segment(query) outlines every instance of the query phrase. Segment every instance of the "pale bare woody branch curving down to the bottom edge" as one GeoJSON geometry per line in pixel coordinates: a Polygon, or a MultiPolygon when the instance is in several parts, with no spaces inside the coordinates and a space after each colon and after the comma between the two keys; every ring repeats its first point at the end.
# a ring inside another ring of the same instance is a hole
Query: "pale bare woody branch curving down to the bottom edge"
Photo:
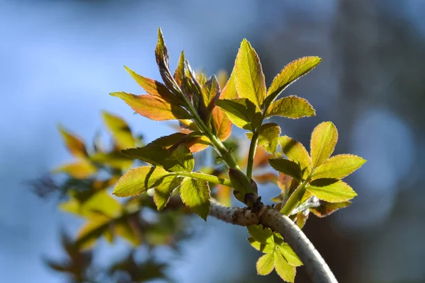
{"type": "Polygon", "coordinates": [[[211,200],[210,216],[239,226],[262,224],[272,231],[280,233],[286,243],[297,253],[307,268],[307,272],[314,283],[338,283],[329,266],[305,233],[294,222],[276,209],[261,207],[259,213],[248,208],[223,207],[215,200],[211,200]]]}

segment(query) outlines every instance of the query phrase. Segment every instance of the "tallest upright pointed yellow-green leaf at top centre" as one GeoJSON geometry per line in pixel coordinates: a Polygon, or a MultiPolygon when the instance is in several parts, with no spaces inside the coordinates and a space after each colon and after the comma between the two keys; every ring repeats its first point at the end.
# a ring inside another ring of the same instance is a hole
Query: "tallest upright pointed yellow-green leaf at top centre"
{"type": "Polygon", "coordinates": [[[259,56],[246,39],[242,41],[234,62],[234,83],[239,98],[247,98],[262,109],[266,82],[259,56]]]}

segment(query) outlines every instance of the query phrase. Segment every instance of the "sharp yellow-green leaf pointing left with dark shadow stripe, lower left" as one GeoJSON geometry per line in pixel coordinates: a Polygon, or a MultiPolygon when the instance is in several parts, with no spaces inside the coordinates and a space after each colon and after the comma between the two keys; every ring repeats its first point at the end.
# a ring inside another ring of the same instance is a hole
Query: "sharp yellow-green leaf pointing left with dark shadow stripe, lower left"
{"type": "Polygon", "coordinates": [[[117,197],[131,197],[156,187],[169,175],[169,172],[160,167],[141,166],[126,172],[116,183],[113,195],[117,197]]]}

